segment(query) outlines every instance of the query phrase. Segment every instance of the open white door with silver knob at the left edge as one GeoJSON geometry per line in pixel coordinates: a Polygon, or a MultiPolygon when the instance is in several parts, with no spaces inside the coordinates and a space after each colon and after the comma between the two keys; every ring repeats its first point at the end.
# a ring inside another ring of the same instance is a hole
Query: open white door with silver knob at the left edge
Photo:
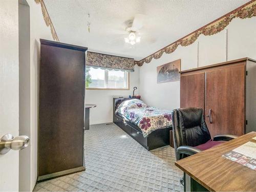
{"type": "MultiPolygon", "coordinates": [[[[1,0],[0,138],[8,133],[14,137],[19,135],[18,54],[18,1],[1,0]]],[[[0,152],[2,146],[3,142],[0,141],[0,152]]],[[[18,191],[18,189],[19,151],[10,150],[8,153],[0,155],[0,191],[18,191]]]]}

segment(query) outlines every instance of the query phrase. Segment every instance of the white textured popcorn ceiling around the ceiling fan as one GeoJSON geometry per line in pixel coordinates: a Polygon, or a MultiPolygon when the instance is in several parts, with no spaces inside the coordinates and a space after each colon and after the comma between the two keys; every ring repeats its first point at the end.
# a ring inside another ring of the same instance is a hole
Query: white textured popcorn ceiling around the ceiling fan
{"type": "Polygon", "coordinates": [[[61,42],[140,60],[249,2],[245,0],[44,0],[61,42]],[[91,32],[87,22],[90,13],[91,32]],[[145,14],[141,42],[125,44],[124,22],[145,14]]]}

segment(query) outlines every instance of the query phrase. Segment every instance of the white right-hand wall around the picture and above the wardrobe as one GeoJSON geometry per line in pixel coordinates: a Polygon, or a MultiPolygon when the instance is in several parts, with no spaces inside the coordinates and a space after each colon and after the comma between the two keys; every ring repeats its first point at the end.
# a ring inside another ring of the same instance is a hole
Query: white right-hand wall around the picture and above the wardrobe
{"type": "MultiPolygon", "coordinates": [[[[256,17],[235,18],[227,29],[227,60],[243,57],[256,59],[256,17]]],[[[173,110],[180,107],[180,81],[157,84],[157,66],[181,59],[181,70],[225,61],[226,31],[211,36],[200,35],[194,44],[179,46],[172,54],[144,63],[139,70],[141,99],[158,108],[173,110]],[[199,44],[199,49],[198,49],[199,44]],[[199,50],[199,51],[198,51],[199,50]]]]}

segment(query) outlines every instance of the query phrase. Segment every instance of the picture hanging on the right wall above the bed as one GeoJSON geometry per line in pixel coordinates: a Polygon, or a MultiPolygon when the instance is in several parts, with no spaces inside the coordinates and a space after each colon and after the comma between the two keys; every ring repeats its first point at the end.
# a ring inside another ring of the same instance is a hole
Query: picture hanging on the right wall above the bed
{"type": "Polygon", "coordinates": [[[180,80],[180,59],[157,67],[157,83],[180,80]]]}

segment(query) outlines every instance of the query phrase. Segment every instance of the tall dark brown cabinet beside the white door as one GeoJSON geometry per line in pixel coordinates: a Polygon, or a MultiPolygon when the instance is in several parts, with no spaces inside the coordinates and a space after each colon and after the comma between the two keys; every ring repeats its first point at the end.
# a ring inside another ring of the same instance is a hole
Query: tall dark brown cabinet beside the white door
{"type": "Polygon", "coordinates": [[[40,39],[38,181],[84,170],[87,48],[40,39]]]}

